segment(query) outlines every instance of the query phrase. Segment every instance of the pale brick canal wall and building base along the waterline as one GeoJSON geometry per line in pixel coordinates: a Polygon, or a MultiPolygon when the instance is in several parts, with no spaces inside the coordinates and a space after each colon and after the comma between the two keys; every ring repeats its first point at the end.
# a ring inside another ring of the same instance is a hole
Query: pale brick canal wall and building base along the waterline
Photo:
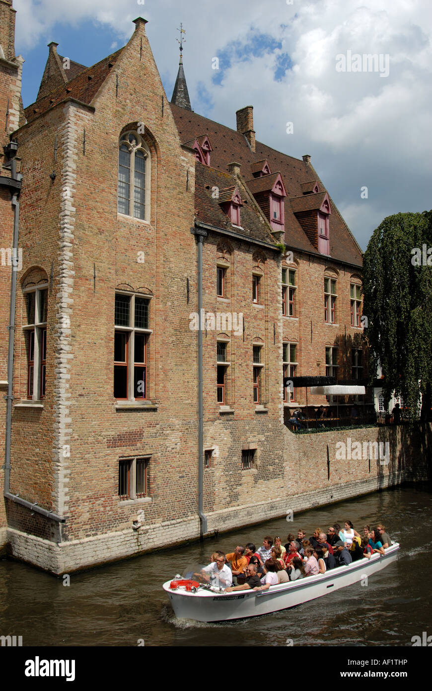
{"type": "MultiPolygon", "coordinates": [[[[282,435],[285,445],[285,476],[271,482],[271,496],[262,496],[259,501],[256,493],[248,491],[244,486],[237,501],[229,507],[226,505],[229,500],[227,493],[225,504],[219,504],[221,509],[206,513],[209,533],[233,530],[286,515],[288,511],[304,511],[384,489],[406,480],[420,481],[430,477],[427,449],[431,448],[431,426],[423,433],[395,426],[336,430],[310,435],[293,435],[282,428],[282,435]],[[361,444],[361,458],[356,457],[358,454],[355,449],[359,449],[356,442],[361,444]],[[388,463],[385,457],[375,458],[375,453],[370,453],[372,457],[369,463],[368,454],[363,453],[366,448],[373,452],[369,442],[384,444],[382,456],[388,449],[388,463]],[[341,446],[342,443],[345,447],[341,446]],[[385,446],[386,443],[389,444],[388,447],[385,446]],[[351,454],[348,448],[351,449],[351,454]],[[346,458],[341,458],[344,451],[346,458]]],[[[254,475],[251,477],[253,482],[254,475]]],[[[264,493],[264,484],[262,489],[264,493]]],[[[197,538],[197,515],[182,520],[151,524],[144,522],[138,531],[128,527],[68,542],[53,542],[13,527],[8,529],[7,537],[9,552],[15,558],[32,562],[55,574],[69,573],[197,538]]]]}

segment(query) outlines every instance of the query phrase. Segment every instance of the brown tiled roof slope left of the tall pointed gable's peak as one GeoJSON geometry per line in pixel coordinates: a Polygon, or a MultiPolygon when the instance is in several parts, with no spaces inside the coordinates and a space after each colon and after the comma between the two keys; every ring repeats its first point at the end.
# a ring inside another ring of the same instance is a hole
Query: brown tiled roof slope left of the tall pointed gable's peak
{"type": "MultiPolygon", "coordinates": [[[[27,122],[32,122],[39,115],[46,113],[50,108],[57,106],[57,104],[68,98],[90,105],[99,88],[104,84],[106,77],[108,77],[115,66],[122,50],[123,48],[119,48],[115,53],[108,55],[108,57],[92,65],[92,67],[85,68],[83,72],[70,79],[69,82],[57,87],[54,91],[28,106],[25,110],[27,122]]],[[[75,63],[75,65],[78,65],[78,63],[75,63]]]]}

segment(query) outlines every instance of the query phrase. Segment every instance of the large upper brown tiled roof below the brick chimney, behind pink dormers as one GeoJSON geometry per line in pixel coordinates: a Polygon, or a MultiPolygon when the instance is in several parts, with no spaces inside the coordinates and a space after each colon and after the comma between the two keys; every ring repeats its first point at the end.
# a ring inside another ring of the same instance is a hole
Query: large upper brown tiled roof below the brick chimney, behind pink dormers
{"type": "MultiPolygon", "coordinates": [[[[326,191],[325,185],[322,184],[310,162],[293,158],[293,156],[271,149],[270,146],[266,146],[258,141],[256,142],[255,152],[253,152],[244,135],[237,130],[209,120],[203,115],[186,111],[175,104],[171,104],[171,111],[177,124],[181,142],[195,140],[197,134],[203,135],[206,133],[208,135],[213,146],[211,162],[215,169],[225,171],[228,168],[228,163],[233,160],[238,161],[245,182],[250,180],[253,173],[259,170],[257,164],[265,160],[268,162],[271,171],[279,172],[288,195],[288,198],[285,200],[286,245],[291,249],[300,249],[319,257],[324,256],[317,252],[317,249],[308,240],[291,209],[291,204],[288,202],[291,198],[304,196],[304,187],[302,185],[311,182],[311,180],[317,181],[321,192],[326,191]]],[[[329,222],[331,257],[335,260],[361,267],[362,250],[348,229],[344,219],[340,216],[339,211],[337,211],[335,202],[333,202],[329,193],[328,198],[333,211],[329,222]]]]}

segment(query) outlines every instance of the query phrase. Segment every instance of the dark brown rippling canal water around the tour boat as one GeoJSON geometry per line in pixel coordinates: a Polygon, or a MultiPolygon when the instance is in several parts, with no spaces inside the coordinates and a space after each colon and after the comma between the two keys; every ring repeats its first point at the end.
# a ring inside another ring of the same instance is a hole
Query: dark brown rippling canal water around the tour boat
{"type": "MultiPolygon", "coordinates": [[[[431,486],[403,486],[295,513],[195,543],[165,549],[70,576],[70,585],[12,560],[0,561],[0,634],[23,637],[23,646],[411,646],[432,634],[431,486]],[[161,584],[192,563],[207,563],[215,549],[297,529],[312,535],[333,522],[382,522],[400,556],[369,578],[284,612],[233,623],[179,621],[161,584]],[[141,643],[142,645],[142,643],[141,643]]],[[[288,510],[288,507],[287,507],[288,510]]]]}

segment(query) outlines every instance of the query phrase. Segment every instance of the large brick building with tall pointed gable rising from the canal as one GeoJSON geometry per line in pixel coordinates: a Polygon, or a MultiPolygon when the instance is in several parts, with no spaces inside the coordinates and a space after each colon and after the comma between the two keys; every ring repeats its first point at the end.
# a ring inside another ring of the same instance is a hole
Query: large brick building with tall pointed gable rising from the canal
{"type": "Polygon", "coordinates": [[[310,156],[256,141],[252,106],[193,113],[181,59],[168,102],[141,18],[90,68],[49,44],[24,118],[0,8],[1,544],[61,573],[280,515],[306,402],[283,375],[365,373],[362,253],[310,156]],[[7,426],[2,400],[2,453],[7,426]]]}

